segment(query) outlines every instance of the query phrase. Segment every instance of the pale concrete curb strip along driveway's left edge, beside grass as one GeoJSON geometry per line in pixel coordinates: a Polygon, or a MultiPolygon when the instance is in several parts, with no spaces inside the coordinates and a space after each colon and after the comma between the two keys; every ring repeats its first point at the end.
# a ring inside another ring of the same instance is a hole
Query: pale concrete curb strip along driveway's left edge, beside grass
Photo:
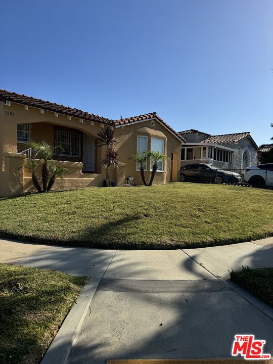
{"type": "Polygon", "coordinates": [[[69,311],[61,328],[45,352],[40,364],[65,364],[72,349],[75,338],[83,324],[101,277],[90,278],[83,287],[77,302],[69,311]]]}

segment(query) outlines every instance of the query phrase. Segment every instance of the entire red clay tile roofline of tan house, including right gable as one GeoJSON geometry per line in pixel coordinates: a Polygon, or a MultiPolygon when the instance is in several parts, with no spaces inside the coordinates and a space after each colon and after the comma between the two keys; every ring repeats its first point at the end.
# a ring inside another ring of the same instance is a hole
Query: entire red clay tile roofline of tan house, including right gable
{"type": "Polygon", "coordinates": [[[136,121],[145,121],[145,120],[156,118],[167,129],[169,129],[169,131],[172,132],[179,140],[186,143],[185,139],[181,135],[179,135],[175,130],[173,130],[172,127],[170,127],[164,120],[162,120],[156,114],[156,112],[153,112],[150,114],[145,114],[145,115],[140,115],[140,116],[132,116],[132,117],[120,119],[120,120],[112,120],[112,119],[105,118],[103,116],[90,114],[88,112],[78,110],[75,108],[70,108],[69,106],[63,106],[63,105],[59,105],[59,104],[56,104],[56,103],[53,103],[50,101],[44,101],[41,99],[35,99],[31,96],[20,95],[20,94],[10,92],[7,90],[3,90],[3,89],[0,89],[0,102],[1,101],[2,102],[11,101],[11,102],[22,104],[22,105],[28,105],[28,106],[36,107],[39,109],[44,109],[44,110],[53,111],[53,112],[68,115],[68,116],[77,117],[77,118],[84,119],[84,120],[90,120],[90,121],[99,122],[99,123],[107,124],[107,125],[114,125],[114,126],[127,125],[130,123],[136,122],[136,121]]]}

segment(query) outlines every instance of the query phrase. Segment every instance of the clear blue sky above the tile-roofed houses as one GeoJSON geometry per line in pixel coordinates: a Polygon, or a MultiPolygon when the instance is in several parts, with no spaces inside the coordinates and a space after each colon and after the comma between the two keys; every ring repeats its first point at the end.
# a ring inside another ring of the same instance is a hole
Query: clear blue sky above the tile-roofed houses
{"type": "Polygon", "coordinates": [[[0,88],[269,143],[272,19],[271,0],[2,2],[0,88]]]}

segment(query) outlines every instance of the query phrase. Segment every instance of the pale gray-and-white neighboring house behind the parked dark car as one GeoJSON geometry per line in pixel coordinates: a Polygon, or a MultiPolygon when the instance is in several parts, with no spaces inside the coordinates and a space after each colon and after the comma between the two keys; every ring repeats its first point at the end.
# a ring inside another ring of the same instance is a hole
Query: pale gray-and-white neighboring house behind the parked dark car
{"type": "Polygon", "coordinates": [[[180,131],[186,139],[181,150],[181,166],[192,163],[210,163],[223,169],[245,169],[257,164],[259,147],[250,132],[210,135],[190,129],[180,131]]]}

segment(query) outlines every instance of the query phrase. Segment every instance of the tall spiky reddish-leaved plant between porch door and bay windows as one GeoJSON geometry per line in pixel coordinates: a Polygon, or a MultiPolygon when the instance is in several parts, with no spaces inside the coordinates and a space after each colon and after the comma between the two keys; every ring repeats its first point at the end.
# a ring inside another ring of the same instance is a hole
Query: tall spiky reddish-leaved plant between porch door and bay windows
{"type": "Polygon", "coordinates": [[[114,136],[115,130],[107,127],[97,133],[98,135],[98,147],[107,147],[104,158],[102,159],[102,165],[106,166],[106,186],[109,187],[109,167],[111,165],[118,166],[117,157],[118,152],[115,151],[115,145],[119,143],[114,136]]]}

